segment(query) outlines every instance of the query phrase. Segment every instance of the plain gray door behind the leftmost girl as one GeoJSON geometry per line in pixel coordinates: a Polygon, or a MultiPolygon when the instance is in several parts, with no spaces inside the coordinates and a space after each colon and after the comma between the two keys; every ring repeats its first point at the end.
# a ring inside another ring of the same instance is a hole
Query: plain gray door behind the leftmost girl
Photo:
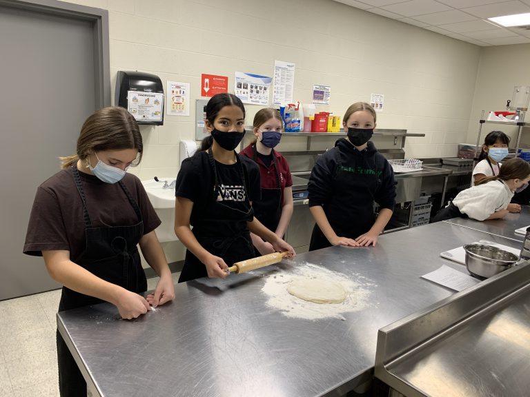
{"type": "Polygon", "coordinates": [[[100,107],[95,40],[88,19],[0,3],[0,300],[60,287],[22,248],[37,187],[100,107]]]}

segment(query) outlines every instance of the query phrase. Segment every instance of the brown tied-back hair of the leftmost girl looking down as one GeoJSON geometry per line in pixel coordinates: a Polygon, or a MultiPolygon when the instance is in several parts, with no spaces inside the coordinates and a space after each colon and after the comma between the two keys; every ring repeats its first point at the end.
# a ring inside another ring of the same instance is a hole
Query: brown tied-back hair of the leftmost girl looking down
{"type": "Polygon", "coordinates": [[[59,160],[61,167],[67,168],[79,159],[86,159],[93,152],[123,149],[137,149],[139,156],[134,163],[137,165],[141,161],[144,144],[140,129],[133,115],[125,108],[111,106],[96,110],[88,116],[77,139],[76,154],[59,157],[59,160]]]}

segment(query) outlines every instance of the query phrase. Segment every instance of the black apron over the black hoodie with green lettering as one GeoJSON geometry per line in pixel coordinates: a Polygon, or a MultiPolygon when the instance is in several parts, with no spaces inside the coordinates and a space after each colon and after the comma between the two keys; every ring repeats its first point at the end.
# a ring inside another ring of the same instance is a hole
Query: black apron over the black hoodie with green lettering
{"type": "MultiPolygon", "coordinates": [[[[337,236],[357,238],[368,232],[375,222],[373,201],[375,192],[380,187],[381,181],[375,170],[375,156],[373,157],[374,174],[354,174],[342,170],[340,150],[335,152],[337,167],[333,176],[332,193],[329,203],[324,204],[324,213],[328,222],[337,236]],[[366,200],[366,194],[371,200],[366,200]],[[349,208],[355,206],[352,213],[349,208]]],[[[313,227],[309,251],[331,247],[324,233],[317,224],[313,227]]]]}

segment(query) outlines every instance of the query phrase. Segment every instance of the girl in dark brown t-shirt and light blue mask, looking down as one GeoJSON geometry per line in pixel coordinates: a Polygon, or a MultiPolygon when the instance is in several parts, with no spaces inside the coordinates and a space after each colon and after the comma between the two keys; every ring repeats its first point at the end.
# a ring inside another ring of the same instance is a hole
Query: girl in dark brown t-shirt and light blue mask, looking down
{"type": "MultiPolygon", "coordinates": [[[[50,275],[63,284],[59,311],[108,301],[123,318],[136,318],[150,304],[175,296],[154,232],[160,221],[141,183],[125,172],[141,149],[133,116],[124,108],[100,109],[84,123],[77,154],[63,158],[64,170],[39,187],[24,252],[43,255],[50,275]],[[147,298],[139,295],[147,281],[137,245],[160,276],[147,298]]],[[[59,332],[57,359],[61,396],[86,395],[86,382],[59,332]]]]}

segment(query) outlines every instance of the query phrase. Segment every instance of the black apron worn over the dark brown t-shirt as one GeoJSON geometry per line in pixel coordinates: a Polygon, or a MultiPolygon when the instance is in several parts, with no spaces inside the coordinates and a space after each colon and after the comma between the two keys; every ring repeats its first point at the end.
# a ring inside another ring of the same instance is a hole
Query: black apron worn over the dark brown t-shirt
{"type": "MultiPolygon", "coordinates": [[[[83,201],[86,241],[85,251],[73,262],[109,283],[120,285],[132,292],[145,292],[147,279],[141,267],[137,248],[140,238],[144,235],[144,223],[135,199],[124,183],[119,181],[119,186],[135,210],[138,223],[132,226],[92,227],[77,165],[72,165],[72,172],[77,191],[83,201]]],[[[63,287],[59,312],[102,302],[99,298],[79,294],[63,287]]],[[[86,382],[59,331],[57,331],[57,361],[61,396],[86,396],[86,382]]]]}

